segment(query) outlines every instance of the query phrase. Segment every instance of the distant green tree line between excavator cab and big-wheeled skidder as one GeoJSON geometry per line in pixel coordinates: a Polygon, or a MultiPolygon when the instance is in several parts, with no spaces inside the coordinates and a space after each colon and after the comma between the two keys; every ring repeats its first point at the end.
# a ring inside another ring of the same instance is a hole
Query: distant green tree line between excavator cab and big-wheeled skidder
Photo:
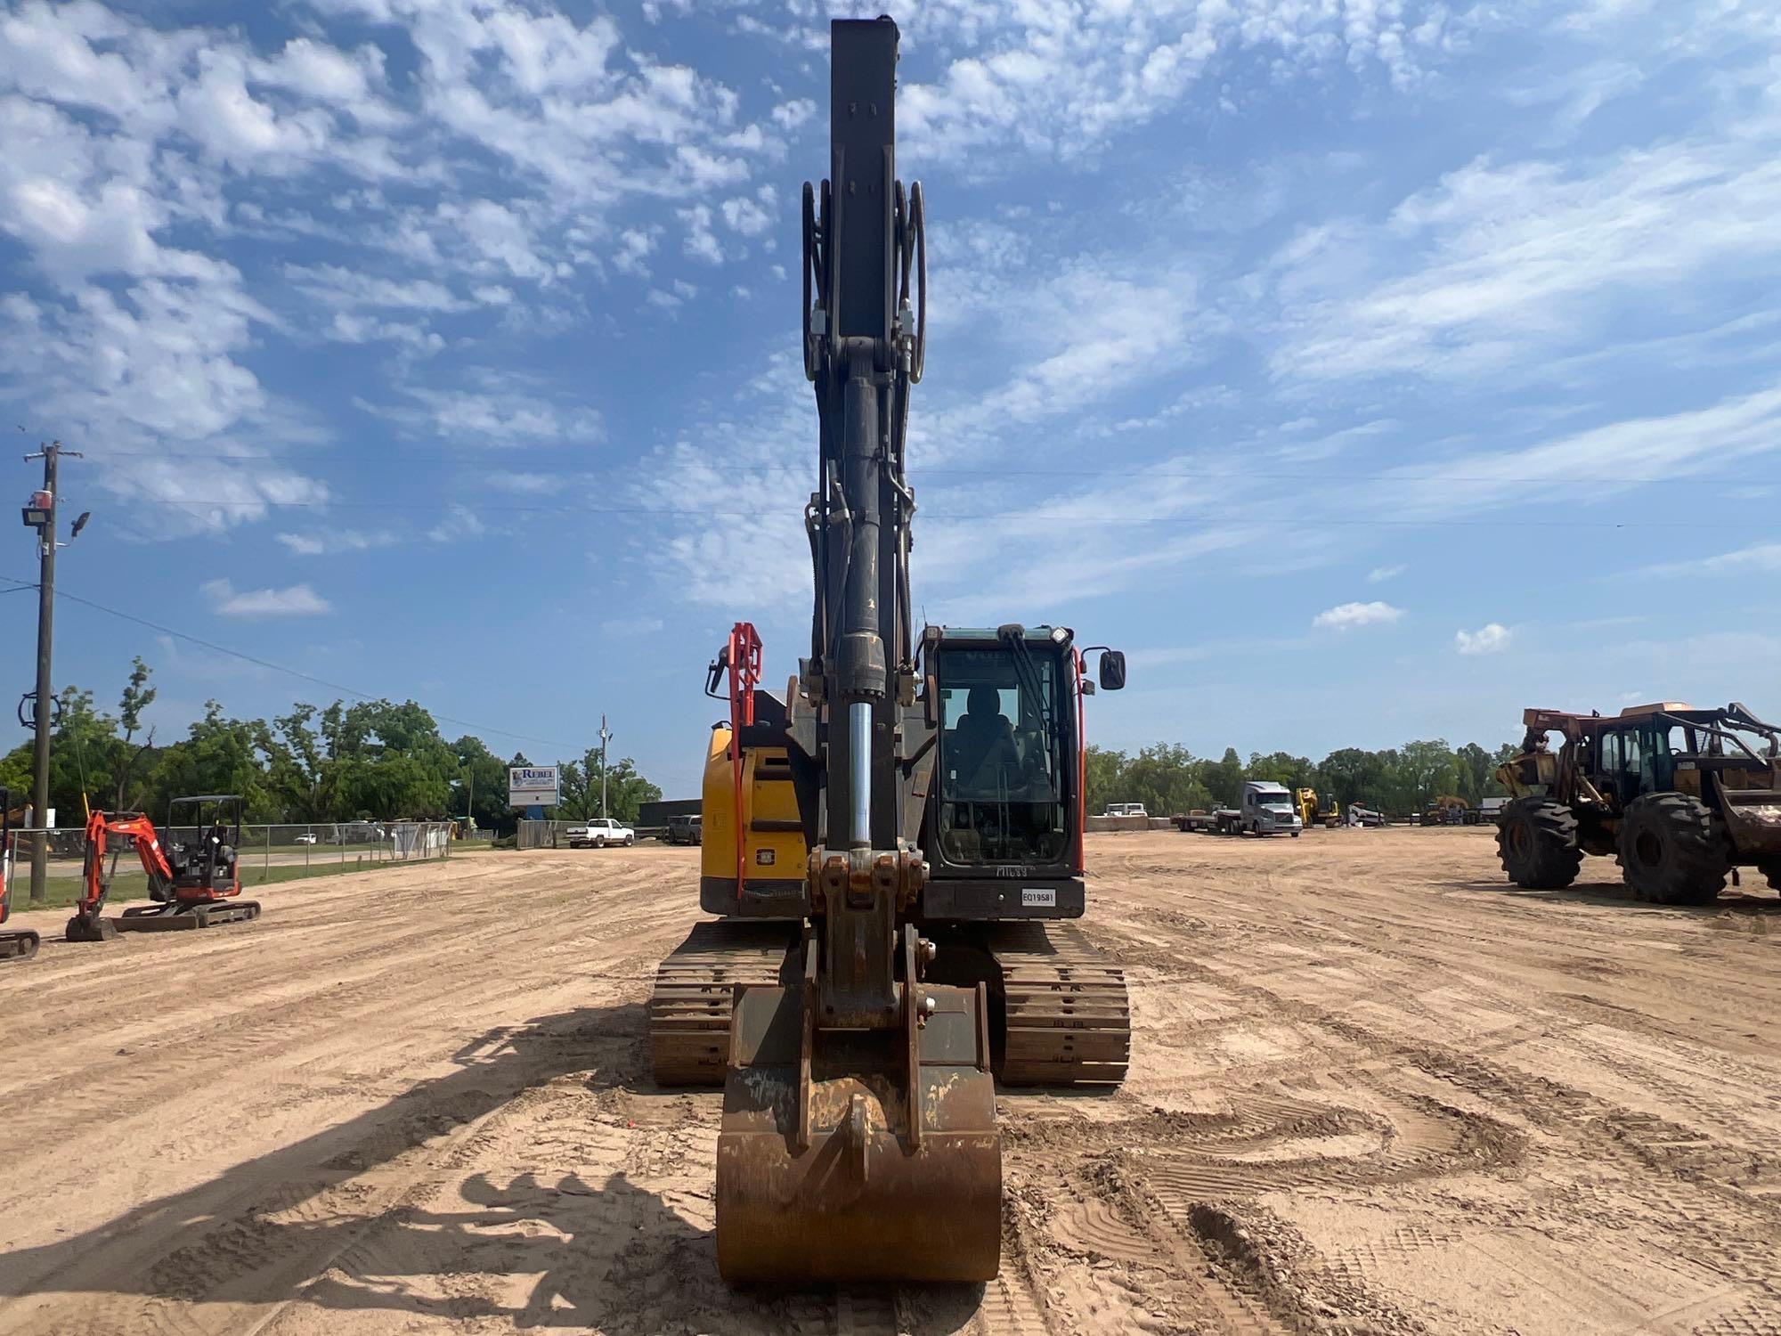
{"type": "Polygon", "coordinates": [[[1088,811],[1104,811],[1110,802],[1142,802],[1152,816],[1234,807],[1245,780],[1316,789],[1318,794],[1334,794],[1343,807],[1359,802],[1395,816],[1419,812],[1444,796],[1464,798],[1476,807],[1484,798],[1507,794],[1494,771],[1517,750],[1514,743],[1494,752],[1478,743],[1453,748],[1435,737],[1382,752],[1345,746],[1322,761],[1252,752],[1245,762],[1234,746],[1227,746],[1218,761],[1172,743],[1154,743],[1134,754],[1090,746],[1088,811]]]}

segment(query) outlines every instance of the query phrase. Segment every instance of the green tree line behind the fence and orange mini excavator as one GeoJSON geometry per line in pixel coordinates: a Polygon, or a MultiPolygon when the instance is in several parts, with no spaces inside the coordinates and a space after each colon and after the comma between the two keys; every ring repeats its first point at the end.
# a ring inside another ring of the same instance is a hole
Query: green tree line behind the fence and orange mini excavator
{"type": "MultiPolygon", "coordinates": [[[[253,823],[472,816],[484,830],[511,828],[516,814],[508,807],[508,766],[538,764],[524,752],[502,759],[470,734],[447,741],[413,700],[299,702],[271,720],[233,718],[210,700],[183,737],[160,743],[142,723],[155,700],[151,677],[153,670],[135,659],[116,713],[102,711],[84,688],[57,695],[50,805],[59,825],[78,825],[87,805],[160,819],[171,798],[239,793],[253,823]]],[[[600,748],[559,768],[563,805],[547,816],[598,816],[600,748]]],[[[0,784],[12,791],[14,805],[28,802],[30,743],[0,757],[0,784]]],[[[634,821],[641,803],[661,798],[630,757],[611,762],[606,791],[607,812],[622,821],[634,821]]]]}

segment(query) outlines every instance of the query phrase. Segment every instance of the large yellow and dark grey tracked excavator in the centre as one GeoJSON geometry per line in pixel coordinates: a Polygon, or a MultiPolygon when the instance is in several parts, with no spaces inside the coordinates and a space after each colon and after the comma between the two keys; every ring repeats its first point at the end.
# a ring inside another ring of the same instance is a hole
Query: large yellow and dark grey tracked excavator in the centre
{"type": "Polygon", "coordinates": [[[1126,659],[1061,625],[914,631],[924,201],[896,178],[896,23],[835,20],[830,41],[830,173],[803,187],[809,656],[784,697],[762,689],[739,622],[711,664],[718,917],[659,967],[650,1047],[659,1083],[723,1085],[728,1283],[981,1283],[1001,1265],[996,1078],[1126,1074],[1124,976],[1072,923],[1083,700],[1126,659]]]}

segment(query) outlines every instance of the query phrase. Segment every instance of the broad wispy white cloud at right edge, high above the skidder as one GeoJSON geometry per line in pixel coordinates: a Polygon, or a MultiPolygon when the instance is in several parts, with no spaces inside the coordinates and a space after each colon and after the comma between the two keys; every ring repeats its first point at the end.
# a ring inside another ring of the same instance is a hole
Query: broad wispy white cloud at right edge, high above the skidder
{"type": "Polygon", "coordinates": [[[1471,378],[1594,347],[1642,294],[1781,280],[1781,157],[1765,135],[1672,141],[1583,164],[1478,159],[1384,226],[1325,223],[1275,258],[1304,379],[1471,378]]]}

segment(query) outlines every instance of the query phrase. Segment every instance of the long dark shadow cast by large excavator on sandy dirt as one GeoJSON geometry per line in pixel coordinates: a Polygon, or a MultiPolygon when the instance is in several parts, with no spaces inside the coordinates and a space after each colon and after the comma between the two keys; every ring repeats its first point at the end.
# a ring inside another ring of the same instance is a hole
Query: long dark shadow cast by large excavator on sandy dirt
{"type": "MultiPolygon", "coordinates": [[[[638,1336],[700,1316],[728,1331],[796,1325],[812,1295],[723,1286],[714,1233],[623,1172],[597,1181],[575,1172],[522,1174],[497,1183],[467,1165],[458,1183],[463,1210],[419,1210],[397,1199],[367,1215],[292,1218],[328,1188],[374,1174],[565,1076],[586,1072],[584,1088],[593,1094],[661,1097],[643,1035],[639,1003],[484,1031],[454,1055],[458,1071],[449,1076],[96,1229],[9,1252],[0,1259],[0,1297],[137,1291],[187,1304],[296,1300],[324,1311],[488,1316],[516,1327],[597,1325],[638,1336]],[[135,1261],[144,1240],[153,1240],[150,1267],[135,1261]],[[128,1267],[114,1261],[119,1254],[130,1258],[128,1267]],[[388,1275],[376,1274],[385,1267],[388,1275]],[[451,1293],[454,1275],[513,1272],[538,1275],[520,1304],[451,1293]],[[424,1284],[403,1277],[424,1277],[424,1284]]],[[[417,1170],[417,1183],[427,1179],[427,1170],[417,1170]]],[[[960,1331],[980,1300],[981,1286],[937,1286],[924,1297],[930,1313],[917,1329],[960,1331]]]]}

